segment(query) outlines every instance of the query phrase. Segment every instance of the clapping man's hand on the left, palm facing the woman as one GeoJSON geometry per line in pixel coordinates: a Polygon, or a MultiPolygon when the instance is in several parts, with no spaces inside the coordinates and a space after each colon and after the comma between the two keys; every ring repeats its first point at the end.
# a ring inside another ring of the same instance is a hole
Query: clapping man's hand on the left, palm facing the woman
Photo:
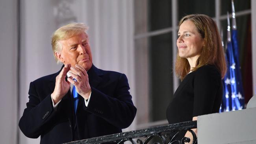
{"type": "Polygon", "coordinates": [[[65,65],[62,68],[59,75],[56,77],[55,88],[51,94],[54,104],[59,102],[65,96],[65,94],[67,94],[67,92],[69,91],[70,82],[66,81],[65,78],[67,76],[67,72],[70,70],[70,67],[71,67],[70,64],[65,65]]]}

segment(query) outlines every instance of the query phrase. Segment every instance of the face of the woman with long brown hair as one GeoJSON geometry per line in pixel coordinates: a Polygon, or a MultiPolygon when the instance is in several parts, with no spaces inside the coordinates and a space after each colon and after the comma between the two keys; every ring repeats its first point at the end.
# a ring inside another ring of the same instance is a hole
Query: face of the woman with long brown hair
{"type": "Polygon", "coordinates": [[[204,40],[198,33],[195,24],[191,20],[186,20],[180,25],[178,31],[177,46],[179,56],[197,60],[202,52],[204,40]]]}

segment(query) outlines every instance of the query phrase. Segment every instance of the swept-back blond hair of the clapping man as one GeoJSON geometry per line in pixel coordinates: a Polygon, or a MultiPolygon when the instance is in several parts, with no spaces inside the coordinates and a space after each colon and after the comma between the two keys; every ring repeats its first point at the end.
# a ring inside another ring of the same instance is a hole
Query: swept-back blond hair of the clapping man
{"type": "Polygon", "coordinates": [[[81,33],[86,33],[89,29],[83,23],[71,23],[65,26],[60,27],[56,30],[52,35],[52,51],[54,54],[54,58],[57,63],[59,63],[58,58],[55,56],[55,52],[60,52],[62,49],[61,43],[59,41],[69,39],[75,35],[80,35],[81,33]]]}

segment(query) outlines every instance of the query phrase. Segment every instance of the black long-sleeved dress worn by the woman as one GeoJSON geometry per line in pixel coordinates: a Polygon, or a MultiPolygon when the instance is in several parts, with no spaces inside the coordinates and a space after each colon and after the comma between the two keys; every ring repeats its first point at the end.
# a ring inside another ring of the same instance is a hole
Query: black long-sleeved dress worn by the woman
{"type": "Polygon", "coordinates": [[[169,124],[191,121],[194,116],[218,113],[223,95],[221,74],[205,65],[187,74],[167,107],[169,124]]]}

